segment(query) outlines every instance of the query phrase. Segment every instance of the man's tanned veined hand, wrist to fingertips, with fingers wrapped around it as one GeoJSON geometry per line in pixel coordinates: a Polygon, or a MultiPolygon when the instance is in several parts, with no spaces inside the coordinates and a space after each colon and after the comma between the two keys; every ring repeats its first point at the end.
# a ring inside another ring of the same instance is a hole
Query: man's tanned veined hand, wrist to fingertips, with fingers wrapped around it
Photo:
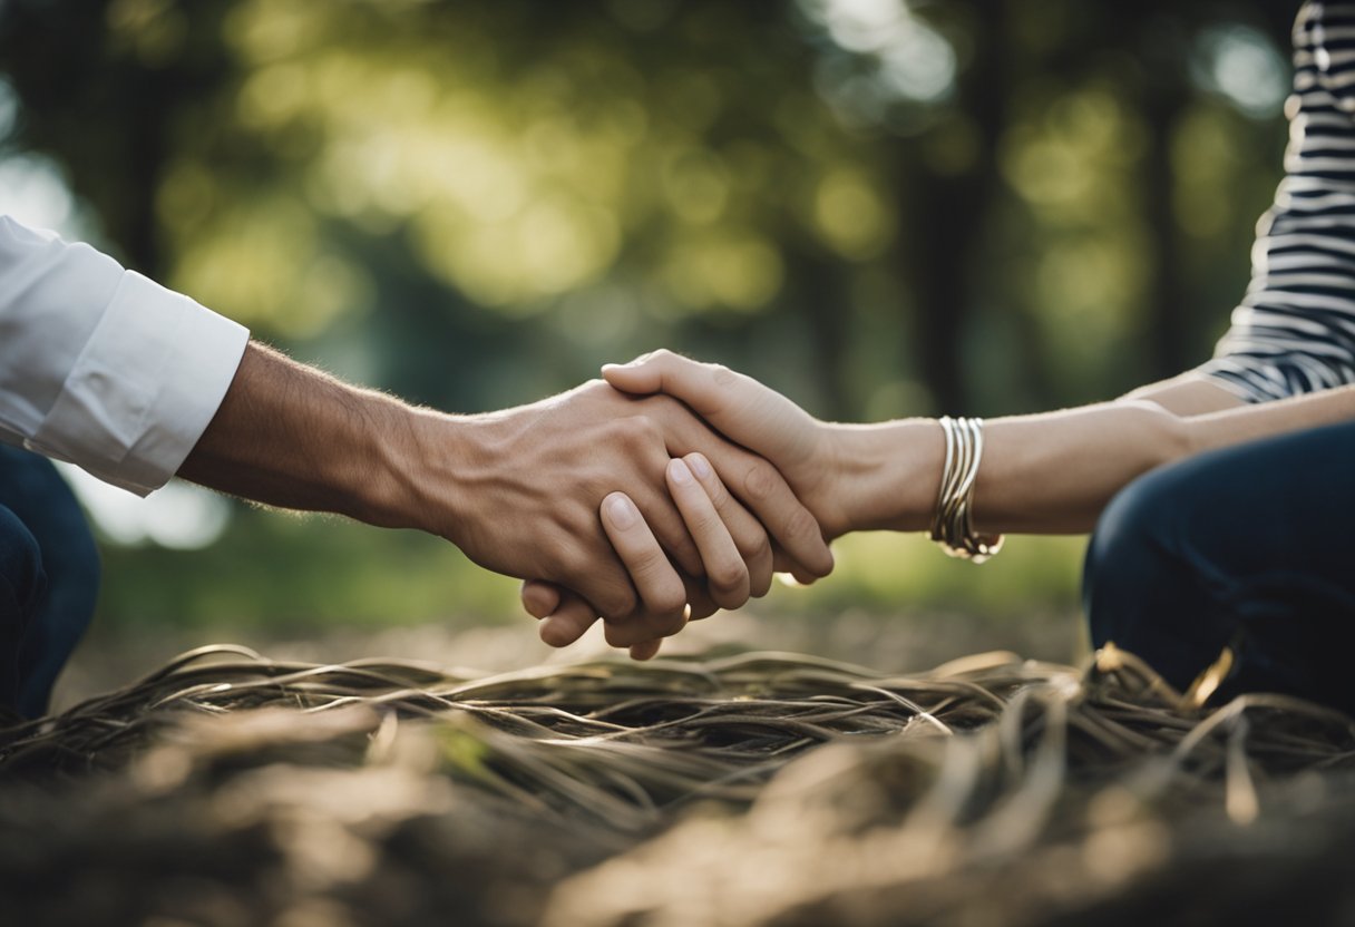
{"type": "Polygon", "coordinates": [[[805,575],[832,569],[818,524],[775,469],[672,398],[595,381],[516,409],[415,421],[406,454],[421,527],[482,566],[577,592],[618,627],[642,615],[627,625],[642,640],[680,629],[688,602],[714,610],[766,592],[767,533],[805,575]],[[698,449],[699,462],[671,464],[698,449]],[[695,480],[691,468],[707,461],[710,476],[695,480]]]}

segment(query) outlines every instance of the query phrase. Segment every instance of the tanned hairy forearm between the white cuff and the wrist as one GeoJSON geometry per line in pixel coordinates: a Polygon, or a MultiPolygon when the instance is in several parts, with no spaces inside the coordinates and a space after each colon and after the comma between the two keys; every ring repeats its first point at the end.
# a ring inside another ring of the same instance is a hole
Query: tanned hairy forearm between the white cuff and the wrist
{"type": "Polygon", "coordinates": [[[268,506],[419,527],[401,465],[416,415],[251,343],[179,476],[268,506]]]}

